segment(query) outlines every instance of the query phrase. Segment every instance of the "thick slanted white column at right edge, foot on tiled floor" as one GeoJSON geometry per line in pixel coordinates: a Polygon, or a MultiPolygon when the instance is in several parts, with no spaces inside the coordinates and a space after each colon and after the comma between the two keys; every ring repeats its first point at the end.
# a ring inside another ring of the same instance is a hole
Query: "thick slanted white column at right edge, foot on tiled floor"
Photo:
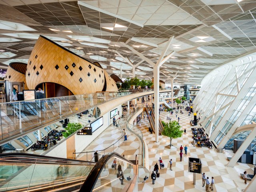
{"type": "Polygon", "coordinates": [[[238,159],[242,156],[244,153],[244,150],[251,144],[252,140],[254,140],[256,136],[256,127],[252,128],[252,132],[247,136],[247,138],[244,140],[240,148],[236,151],[232,159],[228,162],[227,166],[233,167],[238,159]]]}

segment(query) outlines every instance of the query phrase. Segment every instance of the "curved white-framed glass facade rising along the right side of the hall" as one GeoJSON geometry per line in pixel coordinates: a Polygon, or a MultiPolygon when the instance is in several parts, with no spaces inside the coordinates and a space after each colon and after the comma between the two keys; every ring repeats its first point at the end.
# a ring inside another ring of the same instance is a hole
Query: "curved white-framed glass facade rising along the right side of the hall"
{"type": "MultiPolygon", "coordinates": [[[[240,138],[237,128],[256,122],[255,77],[256,54],[250,54],[224,64],[202,80],[194,110],[218,147],[231,148],[234,138],[240,138]]],[[[243,138],[248,135],[241,134],[243,138]]]]}

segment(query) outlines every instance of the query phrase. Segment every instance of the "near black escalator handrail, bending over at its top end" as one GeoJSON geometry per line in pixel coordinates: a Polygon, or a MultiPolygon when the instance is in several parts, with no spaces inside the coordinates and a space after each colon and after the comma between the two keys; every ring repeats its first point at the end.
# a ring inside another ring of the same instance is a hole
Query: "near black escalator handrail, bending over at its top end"
{"type": "Polygon", "coordinates": [[[84,181],[84,184],[80,188],[79,192],[89,192],[89,191],[92,192],[92,190],[94,189],[94,186],[95,186],[95,184],[96,184],[96,182],[97,182],[97,180],[98,180],[98,178],[100,176],[100,173],[102,172],[104,166],[113,157],[116,157],[116,158],[118,158],[120,160],[124,160],[124,161],[128,162],[129,164],[132,164],[132,165],[135,166],[135,164],[133,164],[132,162],[130,162],[126,158],[122,157],[118,153],[111,153],[111,154],[102,156],[102,158],[100,158],[100,160],[96,163],[94,168],[92,168],[91,172],[87,176],[87,178],[84,181]]]}

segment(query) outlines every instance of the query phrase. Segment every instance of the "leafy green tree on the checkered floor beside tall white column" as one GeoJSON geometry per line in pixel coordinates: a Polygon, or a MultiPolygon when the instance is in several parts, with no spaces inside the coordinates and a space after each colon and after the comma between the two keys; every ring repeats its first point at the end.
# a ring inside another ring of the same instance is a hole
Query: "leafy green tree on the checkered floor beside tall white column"
{"type": "Polygon", "coordinates": [[[172,139],[176,139],[182,136],[183,130],[180,130],[180,125],[177,121],[171,121],[165,123],[162,121],[164,130],[162,130],[162,135],[170,137],[170,148],[172,148],[172,139]]]}

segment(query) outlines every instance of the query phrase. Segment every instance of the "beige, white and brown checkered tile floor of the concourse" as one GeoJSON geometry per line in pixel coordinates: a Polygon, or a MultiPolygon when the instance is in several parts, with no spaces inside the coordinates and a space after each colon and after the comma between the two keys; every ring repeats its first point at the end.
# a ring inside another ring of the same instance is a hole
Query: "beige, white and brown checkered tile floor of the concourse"
{"type": "MultiPolygon", "coordinates": [[[[161,120],[167,122],[166,116],[170,116],[168,112],[161,112],[161,120]]],[[[175,114],[171,115],[172,120],[178,120],[180,117],[180,126],[182,129],[186,128],[186,135],[183,134],[181,138],[172,140],[172,149],[166,148],[165,146],[170,144],[170,138],[165,136],[159,136],[159,142],[155,142],[155,135],[148,132],[149,122],[147,119],[142,119],[138,123],[137,127],[143,132],[144,140],[148,146],[149,153],[149,166],[150,172],[152,173],[154,165],[158,162],[159,157],[162,158],[165,167],[160,170],[160,178],[156,179],[155,184],[152,184],[152,180],[149,179],[145,183],[138,184],[138,191],[142,192],[204,192],[206,191],[202,187],[202,176],[196,174],[196,185],[193,184],[193,174],[188,172],[188,157],[200,158],[202,160],[202,172],[206,173],[206,176],[211,178],[214,177],[215,192],[241,192],[242,189],[246,188],[244,180],[240,177],[240,173],[245,170],[248,174],[253,174],[253,165],[237,163],[234,168],[226,167],[228,163],[227,156],[232,156],[232,151],[224,151],[223,153],[217,153],[212,149],[203,147],[192,146],[192,132],[190,126],[190,120],[193,116],[188,116],[188,112],[184,114],[178,114],[177,118],[175,114]],[[179,148],[180,146],[188,147],[188,154],[182,158],[180,162],[179,148]],[[169,169],[169,160],[172,158],[173,165],[172,171],[169,169]]],[[[121,123],[122,126],[126,127],[125,120],[121,123]]],[[[114,126],[107,128],[102,135],[97,138],[85,151],[99,150],[110,146],[116,142],[118,138],[122,136],[120,129],[114,126]]],[[[138,153],[138,147],[140,142],[135,136],[132,136],[128,132],[128,140],[122,142],[120,147],[118,145],[114,148],[109,149],[108,152],[118,152],[124,154],[126,158],[133,158],[138,153]]],[[[85,157],[81,156],[80,159],[85,157]]],[[[248,181],[250,182],[250,181],[248,181]]]]}

